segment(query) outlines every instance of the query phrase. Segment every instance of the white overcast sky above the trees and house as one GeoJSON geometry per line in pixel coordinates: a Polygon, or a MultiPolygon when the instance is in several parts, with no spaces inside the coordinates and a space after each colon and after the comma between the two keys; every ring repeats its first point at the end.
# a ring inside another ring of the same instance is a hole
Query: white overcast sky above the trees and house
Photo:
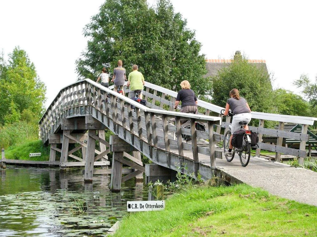
{"type": "MultiPolygon", "coordinates": [[[[0,1],[0,50],[20,46],[47,86],[46,107],[77,78],[75,60],[85,49],[83,27],[103,0],[0,1]]],[[[153,4],[155,0],[148,0],[153,4]]],[[[265,59],[274,87],[299,92],[292,82],[317,74],[316,1],[172,0],[196,31],[206,58],[231,58],[236,50],[265,59]]]]}

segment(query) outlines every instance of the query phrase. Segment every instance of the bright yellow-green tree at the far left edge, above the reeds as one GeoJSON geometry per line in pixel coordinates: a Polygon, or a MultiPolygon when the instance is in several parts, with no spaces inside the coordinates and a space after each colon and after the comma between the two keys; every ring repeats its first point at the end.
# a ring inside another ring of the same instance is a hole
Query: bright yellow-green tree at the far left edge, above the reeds
{"type": "Polygon", "coordinates": [[[16,47],[8,62],[0,57],[0,124],[8,123],[12,112],[29,112],[28,119],[31,117],[37,123],[44,111],[45,92],[46,87],[24,50],[16,47]]]}

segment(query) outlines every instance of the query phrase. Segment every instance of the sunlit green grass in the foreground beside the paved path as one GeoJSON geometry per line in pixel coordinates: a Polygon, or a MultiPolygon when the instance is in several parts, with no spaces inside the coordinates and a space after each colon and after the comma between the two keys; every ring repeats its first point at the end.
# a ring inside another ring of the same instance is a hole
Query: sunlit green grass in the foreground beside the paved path
{"type": "Polygon", "coordinates": [[[192,188],[165,210],[129,214],[116,236],[316,236],[317,207],[248,185],[192,188]]]}

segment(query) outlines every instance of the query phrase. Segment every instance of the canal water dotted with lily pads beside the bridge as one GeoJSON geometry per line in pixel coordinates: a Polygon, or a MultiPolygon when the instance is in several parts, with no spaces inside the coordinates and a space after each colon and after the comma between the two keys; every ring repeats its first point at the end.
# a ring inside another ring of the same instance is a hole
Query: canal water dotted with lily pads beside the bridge
{"type": "Polygon", "coordinates": [[[0,236],[107,236],[127,214],[126,201],[147,200],[144,183],[130,179],[120,193],[109,190],[110,175],[84,184],[81,169],[0,169],[0,236]]]}

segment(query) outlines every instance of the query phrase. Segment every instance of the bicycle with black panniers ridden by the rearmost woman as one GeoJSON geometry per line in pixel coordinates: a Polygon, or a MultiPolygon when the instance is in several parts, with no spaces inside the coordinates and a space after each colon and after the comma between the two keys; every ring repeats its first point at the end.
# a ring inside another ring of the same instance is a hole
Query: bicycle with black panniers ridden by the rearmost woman
{"type": "MultiPolygon", "coordinates": [[[[223,114],[223,110],[221,110],[221,114],[223,114]]],[[[232,116],[232,112],[228,113],[228,116],[232,116]]],[[[242,130],[246,125],[248,124],[248,122],[246,121],[240,121],[239,125],[241,125],[240,130],[242,130]]],[[[242,147],[241,148],[236,148],[233,147],[232,148],[232,156],[227,156],[226,154],[229,152],[229,142],[230,142],[230,137],[231,137],[231,125],[229,125],[229,130],[226,132],[226,134],[224,135],[223,138],[223,151],[224,151],[224,155],[226,157],[227,161],[232,161],[235,153],[237,152],[240,158],[240,162],[242,166],[247,166],[249,164],[250,161],[250,156],[251,156],[251,131],[246,130],[243,134],[243,141],[242,141],[242,147]]]]}

